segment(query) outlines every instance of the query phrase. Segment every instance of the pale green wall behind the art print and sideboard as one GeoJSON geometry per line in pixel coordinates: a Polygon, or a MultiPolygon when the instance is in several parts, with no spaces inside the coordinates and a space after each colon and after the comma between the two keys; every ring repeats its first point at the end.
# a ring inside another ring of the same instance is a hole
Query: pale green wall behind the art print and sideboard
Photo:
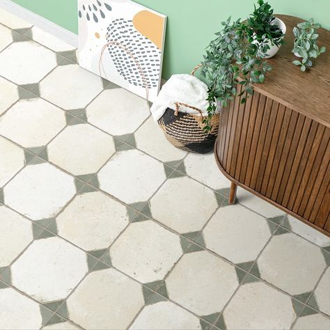
{"type": "MultiPolygon", "coordinates": [[[[201,61],[205,47],[230,15],[246,17],[257,0],[136,0],[168,16],[163,77],[189,72],[201,61]]],[[[77,0],[13,0],[77,33],[77,0]]],[[[269,0],[275,13],[314,17],[330,29],[330,0],[269,0]]]]}

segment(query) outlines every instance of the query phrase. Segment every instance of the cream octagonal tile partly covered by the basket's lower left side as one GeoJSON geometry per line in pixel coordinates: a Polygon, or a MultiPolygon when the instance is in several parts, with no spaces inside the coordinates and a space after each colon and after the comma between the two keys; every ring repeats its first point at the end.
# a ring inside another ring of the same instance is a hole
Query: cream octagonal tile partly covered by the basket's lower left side
{"type": "Polygon", "coordinates": [[[137,148],[162,162],[172,162],[187,155],[187,151],[175,148],[166,140],[162,129],[155,123],[152,116],[139,127],[134,136],[137,148]]]}

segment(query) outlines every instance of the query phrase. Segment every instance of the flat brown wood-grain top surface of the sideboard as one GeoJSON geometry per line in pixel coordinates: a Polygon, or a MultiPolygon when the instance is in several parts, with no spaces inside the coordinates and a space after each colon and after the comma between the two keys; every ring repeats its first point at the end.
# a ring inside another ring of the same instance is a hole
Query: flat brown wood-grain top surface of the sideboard
{"type": "Polygon", "coordinates": [[[304,19],[276,15],[285,22],[285,44],[268,62],[273,70],[267,73],[264,84],[256,84],[259,93],[271,97],[286,107],[330,127],[330,31],[319,29],[317,45],[327,51],[313,59],[313,67],[301,72],[292,64],[299,59],[291,52],[294,44],[292,29],[304,19]]]}

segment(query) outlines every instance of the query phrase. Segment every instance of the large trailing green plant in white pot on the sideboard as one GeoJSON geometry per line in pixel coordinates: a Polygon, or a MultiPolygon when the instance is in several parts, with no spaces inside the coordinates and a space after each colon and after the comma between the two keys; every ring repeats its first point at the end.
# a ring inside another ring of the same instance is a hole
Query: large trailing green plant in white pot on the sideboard
{"type": "Polygon", "coordinates": [[[237,84],[242,85],[242,103],[253,95],[252,84],[262,83],[266,72],[272,70],[265,59],[272,55],[269,50],[274,46],[275,53],[283,44],[282,21],[274,17],[267,2],[258,0],[258,5],[245,22],[237,19],[230,23],[230,18],[222,22],[223,29],[207,47],[201,70],[208,87],[208,116],[203,120],[206,131],[212,128],[210,118],[217,111],[217,102],[226,107],[237,93],[237,84]]]}

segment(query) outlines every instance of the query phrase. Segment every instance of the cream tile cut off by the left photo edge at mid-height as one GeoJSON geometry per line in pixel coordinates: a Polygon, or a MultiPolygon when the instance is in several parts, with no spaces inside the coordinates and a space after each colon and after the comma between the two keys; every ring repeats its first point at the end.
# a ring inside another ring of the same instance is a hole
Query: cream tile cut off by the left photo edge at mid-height
{"type": "Polygon", "coordinates": [[[24,166],[24,151],[0,136],[0,187],[24,166]]]}

